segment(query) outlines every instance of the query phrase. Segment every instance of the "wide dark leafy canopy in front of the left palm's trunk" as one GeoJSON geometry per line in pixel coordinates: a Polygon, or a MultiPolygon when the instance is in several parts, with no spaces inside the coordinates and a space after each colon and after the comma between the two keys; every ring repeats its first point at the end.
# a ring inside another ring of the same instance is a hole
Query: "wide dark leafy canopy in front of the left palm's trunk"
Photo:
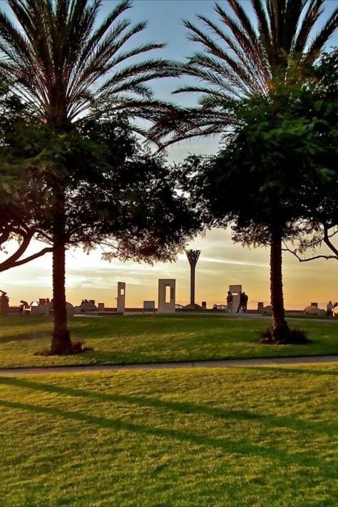
{"type": "MultiPolygon", "coordinates": [[[[8,149],[30,161],[30,180],[20,188],[24,199],[17,195],[14,204],[19,215],[27,204],[34,210],[34,215],[24,216],[35,237],[53,240],[54,181],[66,173],[65,248],[82,246],[88,251],[100,244],[106,247],[103,257],[108,260],[175,258],[192,235],[193,216],[184,198],[173,192],[172,175],[163,156],[143,150],[125,119],[85,118],[68,133],[39,121],[28,128],[29,138],[27,132],[24,138],[14,136],[8,149]]],[[[19,218],[13,217],[12,231],[18,222],[19,218]]],[[[54,290],[57,284],[56,279],[54,290]]],[[[59,350],[54,339],[51,352],[59,350]]]]}

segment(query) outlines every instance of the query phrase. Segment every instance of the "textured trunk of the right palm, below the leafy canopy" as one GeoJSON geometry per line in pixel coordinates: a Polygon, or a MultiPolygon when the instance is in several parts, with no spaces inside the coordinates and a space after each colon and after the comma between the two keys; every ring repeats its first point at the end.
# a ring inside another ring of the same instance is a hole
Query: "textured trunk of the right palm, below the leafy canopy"
{"type": "Polygon", "coordinates": [[[282,235],[278,230],[272,230],[271,232],[270,294],[273,321],[272,338],[274,341],[287,339],[290,329],[285,320],[282,278],[282,235]]]}

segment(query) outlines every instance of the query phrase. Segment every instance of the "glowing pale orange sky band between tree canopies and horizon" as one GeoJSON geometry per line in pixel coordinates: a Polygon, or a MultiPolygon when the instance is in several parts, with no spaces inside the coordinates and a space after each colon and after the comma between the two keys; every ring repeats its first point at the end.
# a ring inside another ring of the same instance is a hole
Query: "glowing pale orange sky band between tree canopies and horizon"
{"type": "MultiPolygon", "coordinates": [[[[240,284],[249,295],[250,309],[256,309],[257,302],[270,304],[268,249],[235,245],[224,230],[211,230],[188,247],[201,250],[196,267],[196,302],[206,301],[208,308],[224,304],[228,286],[240,284]]],[[[337,269],[334,260],[300,263],[285,253],[285,308],[304,309],[310,302],[325,307],[329,299],[337,301],[337,283],[332,276],[337,269]]],[[[118,282],[126,282],[126,307],[142,307],[144,299],[154,299],[157,304],[159,278],[175,278],[176,302],[190,302],[190,267],[185,253],[178,255],[177,262],[150,266],[118,260],[109,263],[101,260],[99,250],[89,255],[73,250],[67,253],[66,273],[67,300],[74,305],[81,299],[95,299],[106,307],[116,307],[118,282]]],[[[20,299],[51,299],[51,256],[1,273],[0,289],[8,293],[12,306],[20,299]]]]}

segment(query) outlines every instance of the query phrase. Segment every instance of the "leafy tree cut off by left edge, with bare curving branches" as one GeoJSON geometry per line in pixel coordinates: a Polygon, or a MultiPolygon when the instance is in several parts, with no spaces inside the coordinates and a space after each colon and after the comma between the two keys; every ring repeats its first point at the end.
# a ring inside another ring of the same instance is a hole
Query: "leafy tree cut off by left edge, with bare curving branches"
{"type": "Polygon", "coordinates": [[[36,216],[41,204],[39,153],[31,160],[22,159],[23,146],[30,142],[26,111],[21,101],[11,96],[4,87],[0,95],[0,250],[6,252],[6,243],[16,239],[18,246],[11,255],[0,262],[0,272],[51,252],[51,247],[43,247],[26,255],[32,238],[39,235],[48,240],[48,235],[39,229],[36,216]],[[15,149],[14,145],[21,144],[15,149]],[[31,170],[36,166],[35,176],[31,170]],[[25,256],[26,255],[26,256],[25,256]]]}

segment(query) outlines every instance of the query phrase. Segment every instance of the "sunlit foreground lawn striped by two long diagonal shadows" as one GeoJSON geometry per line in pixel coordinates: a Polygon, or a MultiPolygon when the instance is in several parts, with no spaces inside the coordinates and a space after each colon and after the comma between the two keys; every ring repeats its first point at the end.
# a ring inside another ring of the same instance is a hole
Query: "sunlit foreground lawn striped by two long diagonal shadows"
{"type": "Polygon", "coordinates": [[[1,507],[338,504],[337,365],[0,377],[1,507]]]}

